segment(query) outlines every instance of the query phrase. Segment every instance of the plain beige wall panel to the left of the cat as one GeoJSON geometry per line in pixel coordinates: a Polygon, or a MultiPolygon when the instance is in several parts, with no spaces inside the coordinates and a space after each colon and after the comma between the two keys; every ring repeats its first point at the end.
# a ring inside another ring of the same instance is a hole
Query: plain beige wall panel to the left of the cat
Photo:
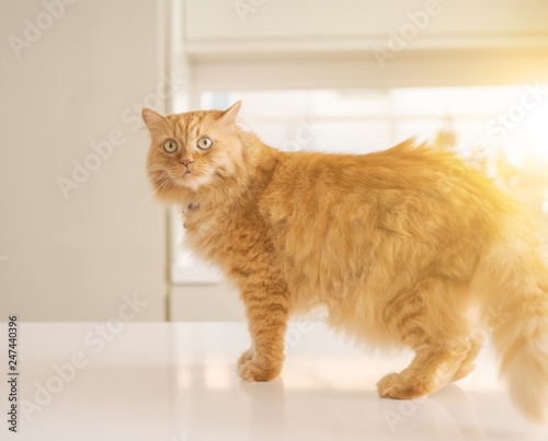
{"type": "Polygon", "coordinates": [[[0,3],[0,321],[106,321],[134,293],[135,320],[165,317],[164,209],[136,130],[144,100],[158,103],[159,13],[156,0],[0,3]],[[15,40],[28,23],[43,30],[15,40]],[[85,160],[96,170],[78,183],[85,160]],[[78,188],[64,195],[59,177],[78,188]]]}

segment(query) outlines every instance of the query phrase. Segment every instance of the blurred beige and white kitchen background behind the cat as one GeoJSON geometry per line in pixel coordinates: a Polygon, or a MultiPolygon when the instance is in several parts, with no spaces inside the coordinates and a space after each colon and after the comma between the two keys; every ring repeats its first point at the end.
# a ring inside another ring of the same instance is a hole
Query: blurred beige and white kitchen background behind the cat
{"type": "Polygon", "coordinates": [[[243,317],[155,201],[140,111],[227,108],[284,150],[454,150],[548,236],[548,2],[0,4],[1,321],[243,317]]]}

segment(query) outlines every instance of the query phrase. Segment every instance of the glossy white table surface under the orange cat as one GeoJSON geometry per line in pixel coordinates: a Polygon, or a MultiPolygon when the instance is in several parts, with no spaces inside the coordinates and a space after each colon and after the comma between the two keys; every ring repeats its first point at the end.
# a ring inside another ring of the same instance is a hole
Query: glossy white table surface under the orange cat
{"type": "Polygon", "coordinates": [[[243,323],[104,325],[20,323],[15,434],[0,324],[1,440],[548,440],[512,407],[489,349],[458,384],[397,402],[375,383],[411,355],[368,353],[320,323],[293,323],[282,376],[254,384],[235,369],[243,323]]]}

